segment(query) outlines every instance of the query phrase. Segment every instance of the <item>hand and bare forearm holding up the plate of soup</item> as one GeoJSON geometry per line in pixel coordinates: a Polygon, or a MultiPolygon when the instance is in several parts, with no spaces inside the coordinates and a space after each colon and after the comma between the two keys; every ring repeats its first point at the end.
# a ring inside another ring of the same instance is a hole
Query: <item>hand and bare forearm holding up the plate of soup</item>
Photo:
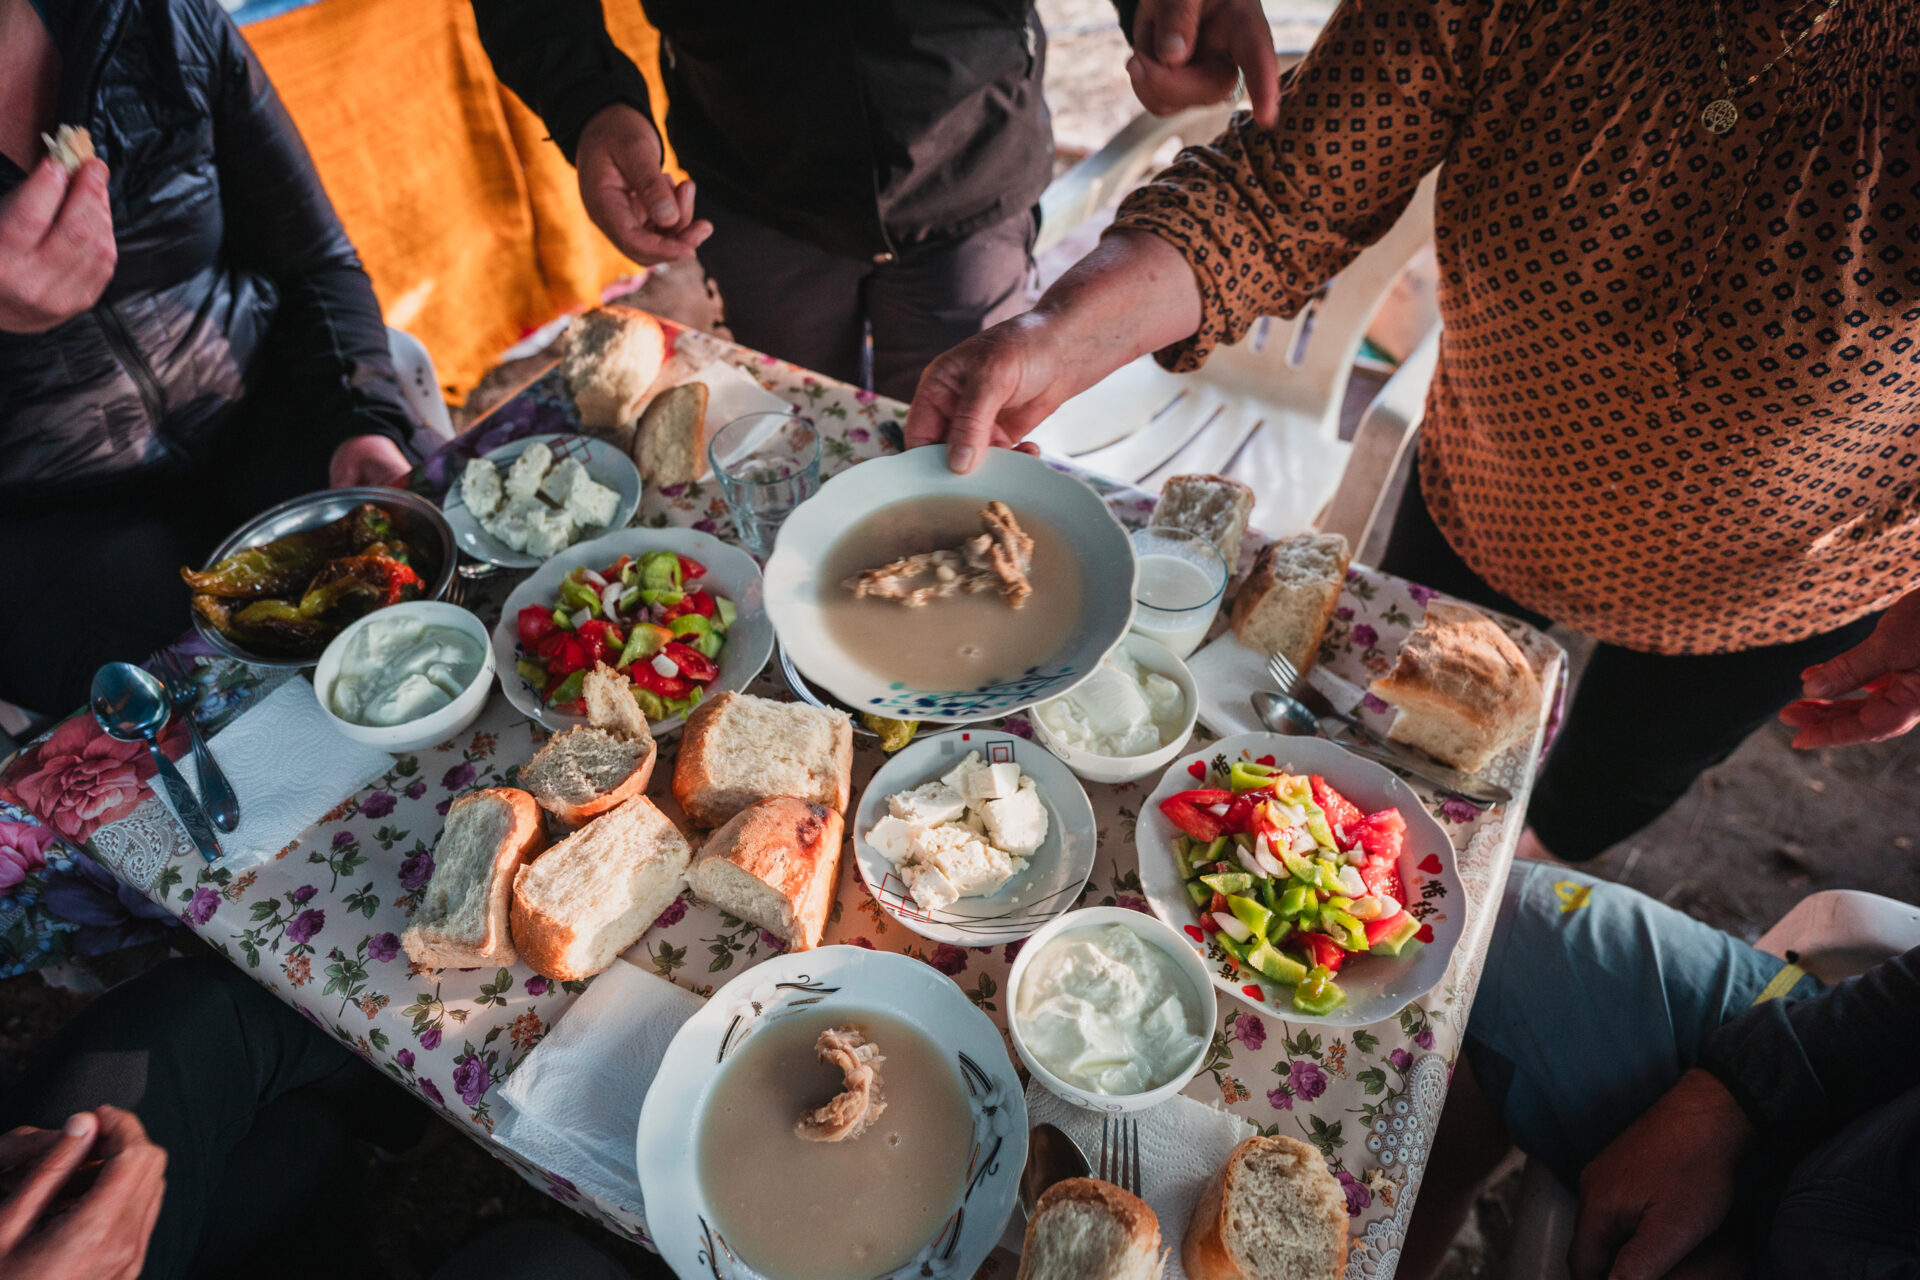
{"type": "Polygon", "coordinates": [[[970,472],[989,447],[1037,453],[1027,432],[1127,361],[1200,326],[1200,286],[1177,248],[1135,230],[1108,232],[1025,315],[947,351],[920,374],[906,447],[947,441],[970,472]]]}

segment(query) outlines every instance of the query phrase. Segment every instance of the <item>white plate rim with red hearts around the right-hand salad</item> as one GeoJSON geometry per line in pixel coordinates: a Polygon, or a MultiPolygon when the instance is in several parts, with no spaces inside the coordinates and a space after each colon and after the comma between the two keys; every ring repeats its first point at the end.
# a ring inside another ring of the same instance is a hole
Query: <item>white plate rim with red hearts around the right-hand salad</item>
{"type": "Polygon", "coordinates": [[[1453,844],[1448,841],[1446,829],[1398,775],[1371,760],[1348,754],[1340,745],[1323,737],[1236,733],[1219,739],[1206,750],[1181,756],[1167,768],[1154,794],[1140,804],[1135,844],[1140,854],[1140,889],[1146,892],[1154,915],[1185,933],[1194,950],[1208,954],[1213,986],[1288,1023],[1365,1027],[1394,1017],[1440,984],[1453,960],[1453,948],[1467,929],[1467,892],[1453,869],[1453,844]],[[1196,762],[1206,768],[1221,756],[1229,762],[1273,756],[1277,764],[1294,773],[1319,773],[1334,791],[1367,814],[1398,808],[1400,816],[1407,819],[1407,839],[1400,852],[1400,883],[1407,890],[1409,904],[1427,902],[1432,906],[1432,913],[1423,921],[1432,929],[1432,938],[1404,956],[1350,956],[1336,979],[1340,990],[1346,992],[1346,1004],[1332,1013],[1321,1017],[1302,1013],[1294,1007],[1290,986],[1256,981],[1236,971],[1217,948],[1210,952],[1204,942],[1206,935],[1200,933],[1198,915],[1187,898],[1187,887],[1173,854],[1173,837],[1179,835],[1179,829],[1160,812],[1160,802],[1175,793],[1206,787],[1208,783],[1196,781],[1188,770],[1196,762]]]}

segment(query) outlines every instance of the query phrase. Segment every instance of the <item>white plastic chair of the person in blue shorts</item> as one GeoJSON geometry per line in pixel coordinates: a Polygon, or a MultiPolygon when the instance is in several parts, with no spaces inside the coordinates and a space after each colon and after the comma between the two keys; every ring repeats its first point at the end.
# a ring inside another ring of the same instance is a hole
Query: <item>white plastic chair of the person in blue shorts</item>
{"type": "MultiPolygon", "coordinates": [[[[1920,946],[1920,908],[1855,889],[1801,898],[1755,942],[1822,983],[1872,969],[1920,946]]],[[[1515,1205],[1507,1280],[1565,1280],[1578,1201],[1540,1161],[1526,1161],[1515,1205]]]]}

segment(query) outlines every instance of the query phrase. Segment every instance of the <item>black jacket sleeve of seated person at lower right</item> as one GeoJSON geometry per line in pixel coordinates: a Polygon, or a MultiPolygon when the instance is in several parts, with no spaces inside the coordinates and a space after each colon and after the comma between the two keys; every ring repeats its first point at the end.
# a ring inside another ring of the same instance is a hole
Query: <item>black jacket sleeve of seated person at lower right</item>
{"type": "Polygon", "coordinates": [[[1814,1146],[1920,1084],[1920,948],[1818,996],[1753,1006],[1707,1038],[1699,1065],[1763,1134],[1814,1146]]]}

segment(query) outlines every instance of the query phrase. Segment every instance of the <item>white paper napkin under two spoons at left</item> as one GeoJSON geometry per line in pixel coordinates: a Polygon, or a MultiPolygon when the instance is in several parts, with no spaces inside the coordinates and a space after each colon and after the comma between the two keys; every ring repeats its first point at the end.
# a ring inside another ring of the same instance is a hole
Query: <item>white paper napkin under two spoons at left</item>
{"type": "MultiPolygon", "coordinates": [[[[394,768],[394,756],[378,747],[344,737],[321,710],[313,685],[298,676],[240,712],[207,739],[207,748],[240,800],[240,825],[213,831],[225,852],[219,865],[232,871],[273,858],[326,810],[394,768]]],[[[175,764],[194,794],[205,794],[194,754],[175,764]]],[[[157,779],[154,794],[179,819],[157,779]]]]}

